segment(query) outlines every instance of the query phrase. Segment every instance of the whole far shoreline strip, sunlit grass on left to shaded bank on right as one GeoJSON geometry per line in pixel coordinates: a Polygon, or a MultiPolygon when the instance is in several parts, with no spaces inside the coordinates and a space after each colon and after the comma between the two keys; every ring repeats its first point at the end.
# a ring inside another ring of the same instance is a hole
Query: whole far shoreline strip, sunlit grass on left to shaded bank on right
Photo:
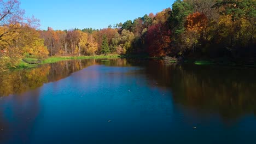
{"type": "Polygon", "coordinates": [[[256,68],[256,63],[230,61],[230,59],[195,59],[195,58],[172,58],[172,57],[149,57],[148,55],[95,55],[95,56],[53,56],[43,60],[37,58],[24,58],[15,69],[33,68],[38,65],[56,63],[74,59],[102,59],[102,58],[139,58],[139,59],[163,59],[165,63],[185,63],[194,65],[220,65],[229,67],[251,67],[256,68]]]}

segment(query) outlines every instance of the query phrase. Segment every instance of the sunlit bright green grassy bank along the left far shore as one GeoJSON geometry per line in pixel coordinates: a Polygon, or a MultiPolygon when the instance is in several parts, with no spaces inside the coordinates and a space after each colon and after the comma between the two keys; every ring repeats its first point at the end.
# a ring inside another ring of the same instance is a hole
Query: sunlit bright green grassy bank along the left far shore
{"type": "Polygon", "coordinates": [[[38,61],[36,58],[24,58],[21,59],[20,64],[16,69],[24,69],[24,68],[33,68],[37,67],[37,65],[41,64],[48,64],[48,63],[56,63],[60,61],[68,61],[68,60],[75,60],[75,59],[101,59],[101,58],[119,58],[120,55],[96,55],[96,56],[53,56],[40,61],[37,64],[29,64],[29,62],[38,61]],[[26,62],[25,62],[26,61],[26,62]]]}

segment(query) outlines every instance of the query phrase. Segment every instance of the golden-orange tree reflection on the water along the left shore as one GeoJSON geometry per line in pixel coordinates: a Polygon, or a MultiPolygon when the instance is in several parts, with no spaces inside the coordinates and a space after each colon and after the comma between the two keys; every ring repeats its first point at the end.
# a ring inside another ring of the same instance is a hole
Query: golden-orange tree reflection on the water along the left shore
{"type": "Polygon", "coordinates": [[[129,66],[125,59],[109,59],[106,62],[103,62],[102,59],[86,59],[83,61],[62,61],[40,65],[38,68],[0,73],[0,97],[24,93],[30,89],[41,87],[44,83],[61,80],[75,71],[95,64],[129,66]]]}

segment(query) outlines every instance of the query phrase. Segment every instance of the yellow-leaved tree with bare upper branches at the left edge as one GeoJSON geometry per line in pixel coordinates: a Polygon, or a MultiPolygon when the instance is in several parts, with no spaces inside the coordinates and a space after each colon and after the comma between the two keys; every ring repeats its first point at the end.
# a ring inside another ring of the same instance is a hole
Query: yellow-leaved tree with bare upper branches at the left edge
{"type": "MultiPolygon", "coordinates": [[[[26,18],[24,14],[25,11],[20,9],[18,0],[0,0],[1,70],[7,70],[19,64],[20,58],[23,57],[22,50],[24,49],[24,45],[20,45],[21,39],[24,40],[21,33],[24,32],[24,29],[30,31],[30,28],[38,26],[37,19],[34,17],[26,18]]],[[[25,41],[28,41],[28,43],[34,42],[29,40],[33,39],[26,39],[25,41]]]]}

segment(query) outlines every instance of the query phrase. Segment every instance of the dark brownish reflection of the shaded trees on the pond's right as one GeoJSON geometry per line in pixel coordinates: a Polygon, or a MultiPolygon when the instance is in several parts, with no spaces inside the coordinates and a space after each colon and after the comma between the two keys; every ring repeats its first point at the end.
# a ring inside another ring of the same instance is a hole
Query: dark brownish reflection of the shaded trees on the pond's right
{"type": "MultiPolygon", "coordinates": [[[[256,116],[256,70],[195,65],[148,64],[147,74],[158,86],[171,87],[174,103],[224,119],[256,116]]],[[[186,110],[186,109],[185,109],[186,110]]]]}

